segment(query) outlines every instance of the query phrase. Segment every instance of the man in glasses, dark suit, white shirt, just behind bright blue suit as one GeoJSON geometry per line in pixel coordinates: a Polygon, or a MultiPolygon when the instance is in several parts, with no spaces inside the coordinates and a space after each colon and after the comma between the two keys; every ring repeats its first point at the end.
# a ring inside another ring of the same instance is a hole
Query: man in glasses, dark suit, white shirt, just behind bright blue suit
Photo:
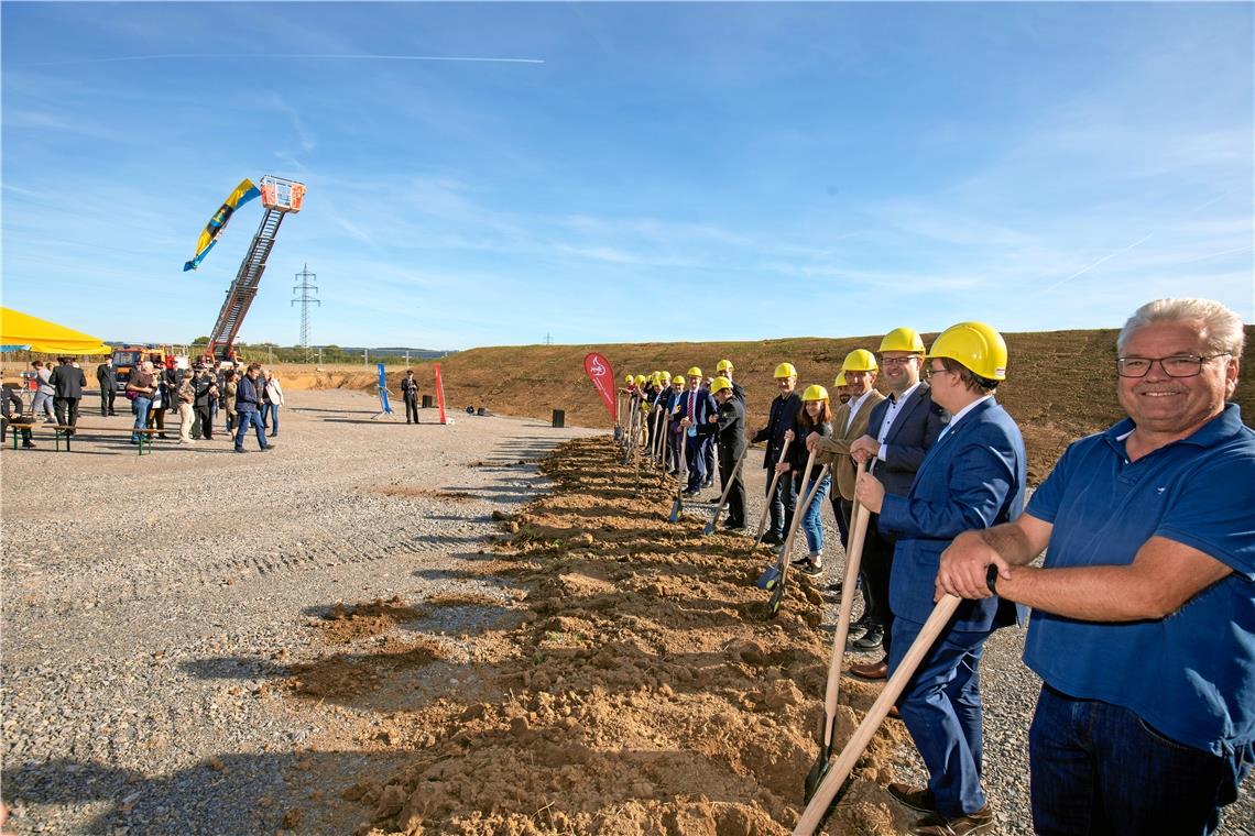
{"type": "MultiPolygon", "coordinates": [[[[889,397],[877,404],[867,422],[867,435],[850,445],[855,461],[867,461],[885,490],[906,496],[915,471],[929,447],[941,434],[941,407],[932,402],[929,385],[920,380],[924,341],[911,328],[895,328],[880,341],[880,367],[889,384],[889,397]]],[[[851,666],[850,672],[866,679],[884,679],[889,673],[894,612],[889,605],[889,579],[894,568],[894,536],[873,516],[863,541],[862,565],[866,572],[871,613],[865,613],[860,629],[851,625],[851,648],[884,648],[880,662],[851,666]]]]}

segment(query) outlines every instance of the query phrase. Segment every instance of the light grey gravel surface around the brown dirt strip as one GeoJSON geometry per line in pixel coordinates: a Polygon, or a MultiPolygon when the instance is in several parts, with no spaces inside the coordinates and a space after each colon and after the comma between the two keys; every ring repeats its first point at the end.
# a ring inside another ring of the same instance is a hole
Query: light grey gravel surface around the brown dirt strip
{"type": "MultiPolygon", "coordinates": [[[[558,441],[594,432],[464,414],[452,426],[407,426],[370,421],[375,400],[360,392],[287,399],[267,455],[255,439],[247,456],[235,455],[217,436],[158,441],[138,457],[120,432],[129,419],[88,410],[74,454],[36,436],[39,450],[0,456],[13,831],[351,831],[358,822],[335,793],[394,773],[403,756],[310,755],[325,713],[267,698],[266,684],[318,654],[306,624],[335,603],[468,593],[506,602],[503,584],[464,572],[498,531],[492,511],[543,489],[535,462],[558,441]],[[100,426],[118,432],[85,429],[100,426]]],[[[745,461],[750,523],[762,508],[759,464],[761,454],[745,461]]],[[[831,510],[825,520],[837,580],[831,510]]],[[[452,637],[494,617],[452,607],[423,627],[452,637]]],[[[1000,630],[981,663],[986,791],[1005,835],[1032,832],[1027,734],[1039,683],[1019,661],[1023,638],[1000,630]]],[[[900,767],[922,781],[914,751],[900,767]]],[[[1255,836],[1251,783],[1221,833],[1255,836]]]]}

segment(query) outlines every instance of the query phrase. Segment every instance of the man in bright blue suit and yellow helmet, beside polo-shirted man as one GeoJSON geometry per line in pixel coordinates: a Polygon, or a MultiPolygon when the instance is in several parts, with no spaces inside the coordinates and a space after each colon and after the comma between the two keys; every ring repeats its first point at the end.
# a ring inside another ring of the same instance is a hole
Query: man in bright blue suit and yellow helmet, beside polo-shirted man
{"type": "MultiPolygon", "coordinates": [[[[944,331],[925,361],[932,399],[950,422],[929,450],[905,496],[863,474],[855,494],[880,514],[895,540],[889,657],[895,671],[932,612],[941,553],[960,533],[1014,520],[1024,506],[1024,440],[994,400],[1007,377],[1007,343],[994,328],[961,322],[944,331]]],[[[978,672],[985,639],[1015,622],[1015,605],[996,597],[964,602],[916,668],[899,709],[929,770],[929,786],[890,785],[902,803],[927,815],[912,833],[953,836],[994,827],[980,787],[981,706],[978,672]]]]}

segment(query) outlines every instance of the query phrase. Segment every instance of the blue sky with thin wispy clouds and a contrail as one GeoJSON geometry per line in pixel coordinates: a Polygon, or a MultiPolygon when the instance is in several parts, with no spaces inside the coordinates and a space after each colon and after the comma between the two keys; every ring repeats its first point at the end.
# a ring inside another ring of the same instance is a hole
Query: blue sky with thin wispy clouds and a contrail
{"type": "Polygon", "coordinates": [[[466,348],[1255,321],[1251,4],[23,4],[3,300],[105,338],[245,322],[466,348]],[[425,60],[425,59],[525,60],[425,60]]]}

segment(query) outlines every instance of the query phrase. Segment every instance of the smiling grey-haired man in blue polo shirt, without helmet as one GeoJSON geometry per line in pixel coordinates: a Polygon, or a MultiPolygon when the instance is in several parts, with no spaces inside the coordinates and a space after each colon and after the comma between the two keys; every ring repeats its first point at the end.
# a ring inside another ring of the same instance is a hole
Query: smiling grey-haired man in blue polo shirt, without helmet
{"type": "Polygon", "coordinates": [[[1034,610],[1038,833],[1212,833],[1255,763],[1255,431],[1226,404],[1242,343],[1219,302],[1138,308],[1116,343],[1128,419],[943,555],[937,595],[1034,610]]]}

